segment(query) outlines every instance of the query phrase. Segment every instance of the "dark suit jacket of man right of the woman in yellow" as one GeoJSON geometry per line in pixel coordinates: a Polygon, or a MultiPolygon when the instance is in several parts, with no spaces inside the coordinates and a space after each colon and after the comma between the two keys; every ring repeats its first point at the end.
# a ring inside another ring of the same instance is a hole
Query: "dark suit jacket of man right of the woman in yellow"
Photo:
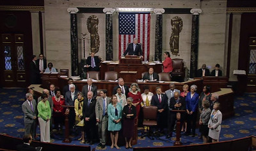
{"type": "MultiPolygon", "coordinates": [[[[95,106],[96,106],[96,101],[95,99],[92,99],[90,102],[90,106],[88,106],[88,99],[84,98],[84,105],[83,105],[83,119],[84,118],[90,118],[90,122],[95,122],[96,123],[96,118],[95,118],[95,106]]],[[[85,120],[84,120],[85,122],[85,120]]]]}

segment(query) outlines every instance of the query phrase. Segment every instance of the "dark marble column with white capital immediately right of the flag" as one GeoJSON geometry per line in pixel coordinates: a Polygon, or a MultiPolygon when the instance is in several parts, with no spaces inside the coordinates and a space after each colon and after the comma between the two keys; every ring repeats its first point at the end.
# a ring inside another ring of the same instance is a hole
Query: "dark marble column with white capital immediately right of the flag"
{"type": "Polygon", "coordinates": [[[156,13],[155,61],[162,61],[164,9],[156,8],[154,13],[156,13]]]}

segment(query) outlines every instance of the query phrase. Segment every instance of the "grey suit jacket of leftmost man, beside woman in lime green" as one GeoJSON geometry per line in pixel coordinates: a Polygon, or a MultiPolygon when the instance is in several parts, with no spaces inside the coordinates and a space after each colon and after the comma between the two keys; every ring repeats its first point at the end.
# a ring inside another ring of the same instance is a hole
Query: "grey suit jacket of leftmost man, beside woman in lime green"
{"type": "Polygon", "coordinates": [[[35,122],[35,116],[38,115],[37,111],[37,106],[36,106],[36,101],[33,99],[32,100],[32,105],[34,111],[32,111],[30,104],[28,103],[28,100],[25,100],[22,104],[22,111],[24,113],[24,123],[33,123],[35,122]]]}

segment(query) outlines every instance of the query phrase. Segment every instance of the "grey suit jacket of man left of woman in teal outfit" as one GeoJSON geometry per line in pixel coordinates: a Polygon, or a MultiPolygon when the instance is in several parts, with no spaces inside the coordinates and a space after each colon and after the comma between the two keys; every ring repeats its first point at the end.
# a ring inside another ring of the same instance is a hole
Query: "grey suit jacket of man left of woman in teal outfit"
{"type": "MultiPolygon", "coordinates": [[[[108,114],[108,104],[110,103],[110,98],[106,97],[107,99],[107,104],[106,104],[106,114],[108,114]]],[[[102,115],[103,115],[103,99],[102,97],[100,97],[99,99],[97,99],[96,105],[95,105],[95,115],[96,118],[99,118],[99,120],[102,120],[102,115]]]]}

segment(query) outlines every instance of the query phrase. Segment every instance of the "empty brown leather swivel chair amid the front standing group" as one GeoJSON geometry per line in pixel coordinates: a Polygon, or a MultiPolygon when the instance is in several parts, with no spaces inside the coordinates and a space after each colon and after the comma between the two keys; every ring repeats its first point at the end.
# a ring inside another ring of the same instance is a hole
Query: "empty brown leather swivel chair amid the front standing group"
{"type": "Polygon", "coordinates": [[[152,127],[157,126],[157,106],[145,106],[143,107],[143,126],[149,127],[149,131],[144,136],[148,136],[149,139],[154,140],[152,136],[152,127]]]}

